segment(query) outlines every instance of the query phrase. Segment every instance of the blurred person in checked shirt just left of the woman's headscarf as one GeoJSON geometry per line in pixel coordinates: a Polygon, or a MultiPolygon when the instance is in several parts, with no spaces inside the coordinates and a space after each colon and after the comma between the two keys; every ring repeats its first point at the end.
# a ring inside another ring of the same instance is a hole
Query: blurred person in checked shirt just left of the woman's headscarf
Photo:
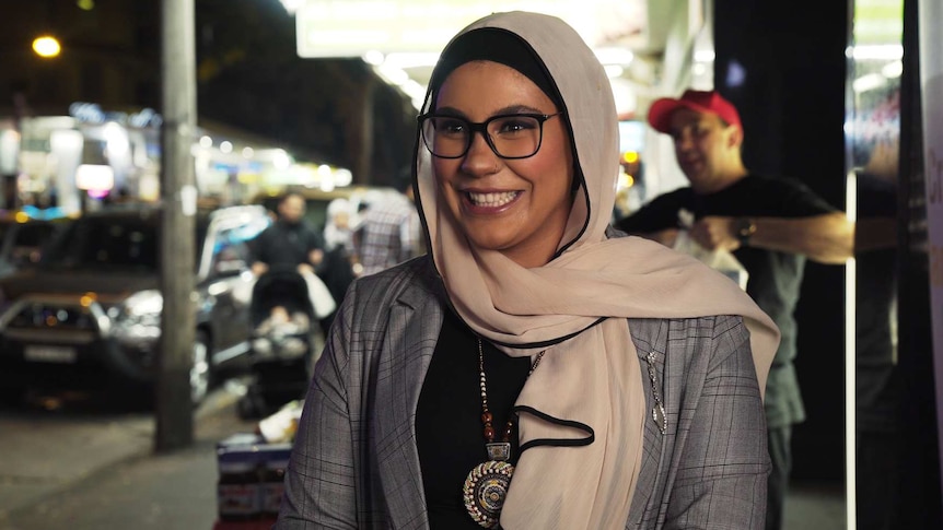
{"type": "Polygon", "coordinates": [[[410,182],[408,169],[397,173],[395,190],[372,201],[362,213],[357,234],[361,274],[388,269],[424,251],[410,182]]]}

